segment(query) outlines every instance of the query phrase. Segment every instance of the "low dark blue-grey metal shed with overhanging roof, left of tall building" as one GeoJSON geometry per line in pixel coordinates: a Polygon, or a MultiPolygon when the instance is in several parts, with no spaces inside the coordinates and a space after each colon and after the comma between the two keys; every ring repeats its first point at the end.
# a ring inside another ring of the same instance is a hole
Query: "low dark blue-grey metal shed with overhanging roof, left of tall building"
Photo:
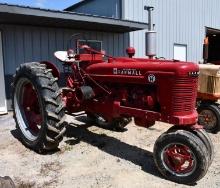
{"type": "Polygon", "coordinates": [[[0,114],[10,109],[10,85],[19,64],[46,60],[60,66],[53,53],[67,50],[74,33],[100,41],[107,53],[122,56],[129,32],[144,28],[146,24],[139,22],[0,4],[0,114]]]}

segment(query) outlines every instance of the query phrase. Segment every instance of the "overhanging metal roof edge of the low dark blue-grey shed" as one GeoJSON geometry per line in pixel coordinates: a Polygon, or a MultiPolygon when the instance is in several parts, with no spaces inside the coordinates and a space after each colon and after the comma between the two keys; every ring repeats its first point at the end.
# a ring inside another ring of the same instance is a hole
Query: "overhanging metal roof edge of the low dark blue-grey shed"
{"type": "MultiPolygon", "coordinates": [[[[0,3],[0,14],[5,15],[6,17],[2,17],[1,23],[9,23],[7,16],[19,16],[22,17],[24,23],[27,18],[36,18],[35,22],[39,22],[41,19],[50,20],[50,22],[67,22],[72,24],[74,27],[75,23],[86,23],[85,27],[93,28],[94,24],[99,26],[99,29],[102,31],[115,31],[115,32],[131,32],[146,29],[147,23],[134,22],[130,20],[121,20],[114,19],[108,17],[94,16],[94,15],[86,15],[82,13],[68,12],[68,11],[59,11],[59,10],[49,10],[49,9],[41,9],[41,8],[33,8],[33,7],[25,7],[25,6],[16,6],[9,4],[0,3]],[[24,19],[25,18],[25,19],[24,19]],[[88,25],[88,26],[87,26],[88,25]],[[105,26],[105,28],[103,28],[105,26]]],[[[0,17],[1,18],[1,17],[0,17]]],[[[14,20],[11,20],[11,22],[14,20]]],[[[10,22],[10,23],[11,23],[10,22]]],[[[22,22],[22,23],[23,23],[22,22]]],[[[31,22],[32,23],[32,22],[31,22]]],[[[33,23],[32,23],[33,24],[33,23]]]]}

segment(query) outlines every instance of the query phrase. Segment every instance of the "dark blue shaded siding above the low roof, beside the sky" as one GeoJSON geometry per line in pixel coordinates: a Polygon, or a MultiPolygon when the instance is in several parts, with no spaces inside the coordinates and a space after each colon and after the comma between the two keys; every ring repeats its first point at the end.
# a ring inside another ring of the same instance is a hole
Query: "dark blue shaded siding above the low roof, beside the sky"
{"type": "Polygon", "coordinates": [[[73,9],[73,12],[86,13],[91,15],[106,16],[110,18],[121,18],[120,0],[94,0],[73,9]]]}

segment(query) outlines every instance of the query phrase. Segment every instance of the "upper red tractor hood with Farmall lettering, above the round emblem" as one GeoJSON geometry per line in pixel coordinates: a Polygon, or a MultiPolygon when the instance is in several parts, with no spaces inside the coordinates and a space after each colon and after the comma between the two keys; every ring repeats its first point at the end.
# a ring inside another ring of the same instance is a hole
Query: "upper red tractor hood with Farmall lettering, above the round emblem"
{"type": "Polygon", "coordinates": [[[197,64],[180,61],[115,58],[108,63],[97,63],[87,67],[91,76],[145,76],[148,73],[161,73],[176,76],[198,74],[197,64]]]}

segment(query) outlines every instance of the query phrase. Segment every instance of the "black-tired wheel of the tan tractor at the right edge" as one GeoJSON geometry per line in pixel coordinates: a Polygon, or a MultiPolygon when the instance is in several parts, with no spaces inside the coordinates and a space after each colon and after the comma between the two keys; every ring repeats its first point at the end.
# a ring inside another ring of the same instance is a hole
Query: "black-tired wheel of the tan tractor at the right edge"
{"type": "Polygon", "coordinates": [[[206,131],[216,133],[220,130],[220,109],[214,103],[201,103],[197,109],[199,113],[199,124],[206,131]]]}

